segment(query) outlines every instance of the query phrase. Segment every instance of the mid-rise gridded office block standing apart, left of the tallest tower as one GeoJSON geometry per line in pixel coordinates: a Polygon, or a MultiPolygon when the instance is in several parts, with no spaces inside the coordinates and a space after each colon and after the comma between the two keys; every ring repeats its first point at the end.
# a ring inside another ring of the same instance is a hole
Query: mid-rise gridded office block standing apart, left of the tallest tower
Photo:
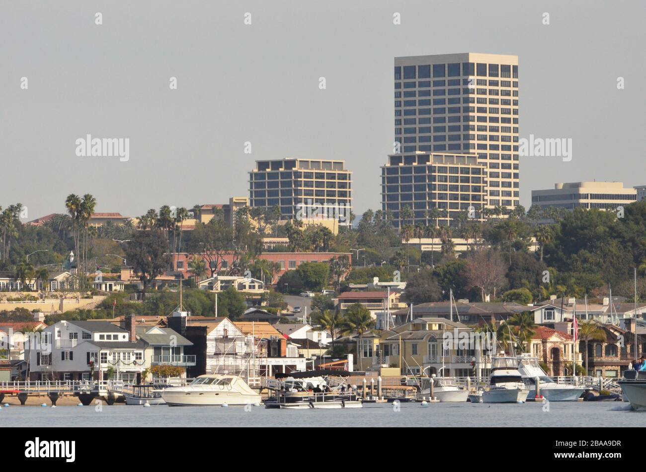
{"type": "Polygon", "coordinates": [[[351,174],[345,161],[256,161],[249,172],[249,205],[278,206],[282,220],[306,224],[335,220],[333,228],[350,226],[351,174]]]}

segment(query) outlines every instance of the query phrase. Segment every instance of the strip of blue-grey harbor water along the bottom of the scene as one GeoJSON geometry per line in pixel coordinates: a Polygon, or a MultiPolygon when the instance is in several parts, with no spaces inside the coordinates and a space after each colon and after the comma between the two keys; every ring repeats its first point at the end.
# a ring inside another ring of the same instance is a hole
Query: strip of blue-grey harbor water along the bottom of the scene
{"type": "Polygon", "coordinates": [[[543,404],[372,404],[355,409],[275,410],[264,407],[94,406],[21,407],[0,411],[3,427],[442,427],[645,426],[646,414],[623,402],[543,404]]]}

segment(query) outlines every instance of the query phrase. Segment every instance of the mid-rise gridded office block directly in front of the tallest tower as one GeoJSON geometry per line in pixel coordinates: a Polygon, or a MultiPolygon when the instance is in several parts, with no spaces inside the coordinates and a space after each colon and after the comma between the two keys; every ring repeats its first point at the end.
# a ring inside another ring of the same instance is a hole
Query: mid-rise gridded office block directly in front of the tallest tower
{"type": "Polygon", "coordinates": [[[486,164],[478,162],[475,154],[418,151],[390,155],[388,164],[381,168],[383,209],[399,215],[395,226],[450,224],[460,211],[481,219],[486,179],[486,164]],[[413,211],[412,219],[400,214],[406,206],[413,211]],[[434,214],[433,209],[444,211],[434,214]]]}

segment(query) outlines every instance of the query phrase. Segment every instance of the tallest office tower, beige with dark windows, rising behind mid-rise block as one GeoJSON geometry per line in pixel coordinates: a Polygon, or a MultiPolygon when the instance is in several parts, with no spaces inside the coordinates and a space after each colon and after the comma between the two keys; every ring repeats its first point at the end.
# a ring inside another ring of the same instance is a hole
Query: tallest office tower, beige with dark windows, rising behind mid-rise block
{"type": "MultiPolygon", "coordinates": [[[[517,56],[395,57],[394,119],[395,153],[475,154],[488,173],[485,207],[519,204],[517,56]]],[[[395,219],[400,208],[390,206],[395,219]]]]}

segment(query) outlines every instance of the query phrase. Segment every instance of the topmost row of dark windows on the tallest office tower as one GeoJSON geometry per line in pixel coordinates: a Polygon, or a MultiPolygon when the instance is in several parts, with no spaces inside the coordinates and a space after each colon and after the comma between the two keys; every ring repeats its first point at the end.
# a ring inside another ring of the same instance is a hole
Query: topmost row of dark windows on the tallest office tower
{"type": "Polygon", "coordinates": [[[395,66],[395,80],[430,79],[431,77],[459,77],[475,75],[477,77],[518,78],[518,66],[510,64],[483,63],[449,63],[426,64],[419,66],[395,66]],[[403,75],[402,75],[403,72],[403,75]]]}

